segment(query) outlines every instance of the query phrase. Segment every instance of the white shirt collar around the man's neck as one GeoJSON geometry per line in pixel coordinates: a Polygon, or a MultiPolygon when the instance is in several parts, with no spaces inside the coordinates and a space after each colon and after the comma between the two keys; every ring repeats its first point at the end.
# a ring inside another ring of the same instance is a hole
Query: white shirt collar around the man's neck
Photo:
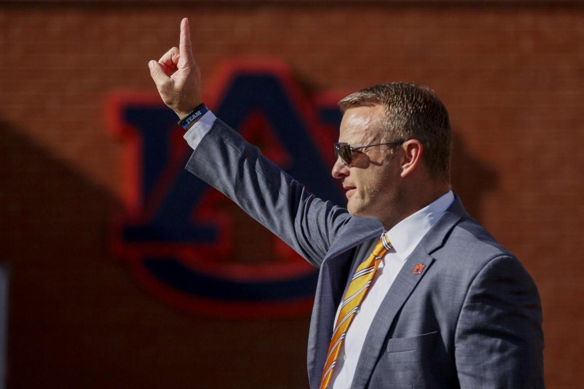
{"type": "Polygon", "coordinates": [[[412,254],[420,240],[453,202],[454,194],[449,191],[385,232],[391,246],[402,260],[405,261],[412,254]]]}

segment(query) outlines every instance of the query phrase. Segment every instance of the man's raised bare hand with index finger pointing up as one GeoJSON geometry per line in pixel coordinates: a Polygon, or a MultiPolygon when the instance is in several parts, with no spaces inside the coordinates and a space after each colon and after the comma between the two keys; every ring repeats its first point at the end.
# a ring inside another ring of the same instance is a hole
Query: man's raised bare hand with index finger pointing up
{"type": "Polygon", "coordinates": [[[148,67],[162,101],[178,117],[185,117],[201,104],[201,72],[193,58],[189,19],[180,22],[179,48],[171,48],[158,62],[152,59],[148,67]]]}

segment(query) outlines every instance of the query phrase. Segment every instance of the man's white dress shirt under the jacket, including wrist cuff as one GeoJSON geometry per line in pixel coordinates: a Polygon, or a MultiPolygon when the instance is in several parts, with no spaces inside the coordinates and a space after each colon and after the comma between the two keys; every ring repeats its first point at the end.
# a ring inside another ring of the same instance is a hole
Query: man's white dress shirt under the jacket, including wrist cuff
{"type": "MultiPolygon", "coordinates": [[[[193,150],[197,148],[201,139],[211,129],[216,119],[211,111],[207,111],[185,133],[184,138],[193,150]]],[[[378,265],[377,272],[373,277],[369,290],[367,290],[367,295],[361,302],[360,309],[349,326],[333,370],[332,389],[346,389],[351,386],[365,337],[381,302],[387,295],[406,258],[412,254],[413,249],[418,246],[422,237],[453,202],[454,194],[449,191],[386,232],[394,248],[385,254],[378,265]]],[[[363,260],[365,259],[363,258],[363,260]]],[[[338,316],[339,309],[336,312],[333,326],[338,316]]]]}

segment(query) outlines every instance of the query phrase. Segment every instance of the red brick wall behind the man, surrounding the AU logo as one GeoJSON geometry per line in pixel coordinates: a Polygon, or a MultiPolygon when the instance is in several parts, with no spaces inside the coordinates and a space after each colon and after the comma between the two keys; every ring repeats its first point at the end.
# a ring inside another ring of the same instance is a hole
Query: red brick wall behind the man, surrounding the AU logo
{"type": "Polygon", "coordinates": [[[204,80],[225,59],[269,56],[318,90],[432,86],[457,134],[455,190],[540,289],[547,385],[578,387],[584,9],[276,2],[1,6],[10,388],[307,387],[308,317],[180,313],[107,249],[122,145],[103,102],[154,92],[147,62],[178,44],[183,16],[204,80]]]}

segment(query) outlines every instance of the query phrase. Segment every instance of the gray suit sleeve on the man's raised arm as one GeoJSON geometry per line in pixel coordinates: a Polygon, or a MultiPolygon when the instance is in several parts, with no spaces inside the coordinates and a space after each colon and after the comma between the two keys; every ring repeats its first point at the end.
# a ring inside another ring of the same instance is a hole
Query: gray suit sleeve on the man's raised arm
{"type": "Polygon", "coordinates": [[[305,190],[219,119],[193,151],[186,170],[227,195],[316,267],[351,217],[345,208],[305,190]]]}

